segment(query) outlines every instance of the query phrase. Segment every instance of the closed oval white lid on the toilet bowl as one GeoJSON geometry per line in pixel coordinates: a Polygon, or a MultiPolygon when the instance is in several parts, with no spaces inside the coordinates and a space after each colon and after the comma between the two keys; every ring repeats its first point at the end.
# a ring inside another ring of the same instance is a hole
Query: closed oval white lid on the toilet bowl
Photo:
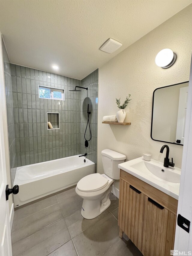
{"type": "Polygon", "coordinates": [[[108,184],[108,179],[99,173],[93,173],[85,176],[77,183],[78,190],[82,192],[93,192],[101,190],[108,184]]]}

